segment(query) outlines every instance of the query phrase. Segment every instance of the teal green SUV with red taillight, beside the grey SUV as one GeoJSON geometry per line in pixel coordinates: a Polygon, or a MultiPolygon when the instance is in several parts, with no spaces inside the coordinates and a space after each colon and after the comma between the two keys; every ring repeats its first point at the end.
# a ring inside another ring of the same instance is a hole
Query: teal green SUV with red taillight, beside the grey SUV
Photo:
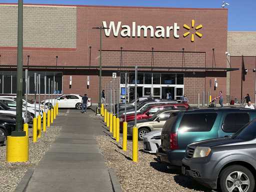
{"type": "Polygon", "coordinates": [[[192,142],[229,136],[256,117],[256,110],[207,108],[173,112],[161,133],[157,158],[170,167],[181,166],[186,146],[192,142]]]}

